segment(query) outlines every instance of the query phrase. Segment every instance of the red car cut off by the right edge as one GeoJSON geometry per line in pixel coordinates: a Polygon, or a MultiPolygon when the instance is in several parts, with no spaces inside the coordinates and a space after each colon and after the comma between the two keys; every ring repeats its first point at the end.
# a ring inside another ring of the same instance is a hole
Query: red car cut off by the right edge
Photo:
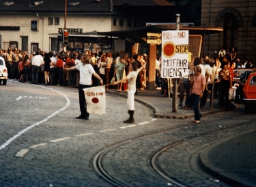
{"type": "Polygon", "coordinates": [[[256,106],[256,73],[248,76],[243,89],[245,112],[251,112],[256,106]]]}

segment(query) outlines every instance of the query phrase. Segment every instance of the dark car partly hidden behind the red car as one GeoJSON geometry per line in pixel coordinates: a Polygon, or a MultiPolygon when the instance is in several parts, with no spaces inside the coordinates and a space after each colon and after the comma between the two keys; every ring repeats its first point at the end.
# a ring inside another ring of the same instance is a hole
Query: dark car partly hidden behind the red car
{"type": "Polygon", "coordinates": [[[248,76],[253,72],[253,68],[235,68],[233,73],[238,73],[238,76],[233,78],[233,85],[237,87],[235,103],[244,103],[243,88],[248,76]]]}

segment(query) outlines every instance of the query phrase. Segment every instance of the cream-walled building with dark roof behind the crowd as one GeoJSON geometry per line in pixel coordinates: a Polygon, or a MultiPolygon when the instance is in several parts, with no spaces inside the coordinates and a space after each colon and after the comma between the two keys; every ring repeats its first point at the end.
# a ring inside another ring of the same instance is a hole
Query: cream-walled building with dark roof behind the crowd
{"type": "MultiPolygon", "coordinates": [[[[110,39],[98,32],[122,31],[145,27],[146,22],[200,22],[201,7],[175,7],[167,0],[68,0],[66,27],[69,31],[68,50],[87,49],[108,52],[124,51],[125,39],[110,39]],[[112,44],[114,43],[114,44],[112,44]]],[[[0,48],[18,48],[29,53],[40,48],[60,51],[65,22],[65,1],[1,1],[0,48]]]]}

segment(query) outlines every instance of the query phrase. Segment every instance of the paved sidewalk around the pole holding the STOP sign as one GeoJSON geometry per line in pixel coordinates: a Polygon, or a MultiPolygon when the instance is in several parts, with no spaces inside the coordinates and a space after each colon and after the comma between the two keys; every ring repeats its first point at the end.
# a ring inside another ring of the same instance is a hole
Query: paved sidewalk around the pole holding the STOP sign
{"type": "MultiPolygon", "coordinates": [[[[135,95],[135,101],[150,107],[154,112],[155,118],[171,118],[171,119],[186,119],[194,118],[193,109],[180,109],[178,105],[180,100],[177,97],[177,112],[172,112],[173,109],[173,98],[162,97],[159,93],[160,90],[138,90],[138,95],[135,95]]],[[[106,93],[111,93],[113,95],[119,95],[121,97],[127,98],[127,92],[117,92],[117,89],[106,90],[106,93]]],[[[183,101],[183,105],[185,103],[183,101]]],[[[210,95],[208,95],[207,103],[203,109],[200,109],[201,116],[207,116],[209,114],[215,114],[218,112],[225,112],[221,107],[218,106],[218,99],[213,100],[212,108],[210,108],[210,95]]]]}

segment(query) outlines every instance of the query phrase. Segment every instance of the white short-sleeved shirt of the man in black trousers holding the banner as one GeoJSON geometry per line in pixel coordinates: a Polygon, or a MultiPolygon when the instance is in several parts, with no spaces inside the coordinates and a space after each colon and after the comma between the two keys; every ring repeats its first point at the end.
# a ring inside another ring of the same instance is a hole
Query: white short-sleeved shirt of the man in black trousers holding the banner
{"type": "Polygon", "coordinates": [[[94,68],[90,64],[79,63],[76,65],[76,69],[80,71],[79,84],[91,85],[91,75],[95,73],[94,68]]]}

